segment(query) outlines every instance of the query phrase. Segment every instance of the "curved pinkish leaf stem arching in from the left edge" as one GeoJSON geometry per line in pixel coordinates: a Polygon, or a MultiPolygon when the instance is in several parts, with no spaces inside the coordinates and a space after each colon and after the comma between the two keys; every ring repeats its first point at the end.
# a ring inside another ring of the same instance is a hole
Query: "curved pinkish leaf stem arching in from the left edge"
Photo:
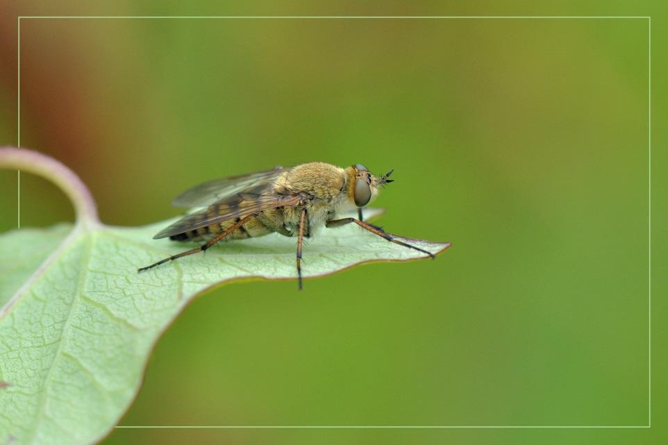
{"type": "Polygon", "coordinates": [[[28,171],[51,180],[72,201],[77,224],[99,224],[97,206],[88,188],[62,162],[37,151],[6,146],[0,147],[0,168],[28,171]]]}

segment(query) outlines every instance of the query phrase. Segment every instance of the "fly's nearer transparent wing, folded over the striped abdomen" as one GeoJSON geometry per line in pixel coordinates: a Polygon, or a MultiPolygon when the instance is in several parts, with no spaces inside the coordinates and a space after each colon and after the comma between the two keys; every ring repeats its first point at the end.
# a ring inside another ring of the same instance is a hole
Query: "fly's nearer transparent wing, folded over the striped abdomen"
{"type": "Polygon", "coordinates": [[[185,215],[171,226],[160,231],[153,239],[178,235],[230,219],[242,218],[269,208],[297,205],[297,203],[299,203],[297,196],[272,192],[271,184],[268,186],[264,184],[253,185],[253,187],[241,192],[225,196],[204,210],[185,215]]]}

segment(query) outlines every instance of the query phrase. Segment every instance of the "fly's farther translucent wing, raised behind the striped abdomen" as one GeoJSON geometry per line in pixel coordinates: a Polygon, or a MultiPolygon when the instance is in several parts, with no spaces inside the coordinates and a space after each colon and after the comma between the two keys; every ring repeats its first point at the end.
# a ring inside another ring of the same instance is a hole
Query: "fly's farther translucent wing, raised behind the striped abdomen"
{"type": "Polygon", "coordinates": [[[184,208],[209,205],[214,201],[224,199],[228,195],[237,194],[249,187],[267,183],[271,184],[287,170],[282,167],[276,167],[272,170],[210,180],[176,196],[172,201],[172,205],[184,208]]]}

